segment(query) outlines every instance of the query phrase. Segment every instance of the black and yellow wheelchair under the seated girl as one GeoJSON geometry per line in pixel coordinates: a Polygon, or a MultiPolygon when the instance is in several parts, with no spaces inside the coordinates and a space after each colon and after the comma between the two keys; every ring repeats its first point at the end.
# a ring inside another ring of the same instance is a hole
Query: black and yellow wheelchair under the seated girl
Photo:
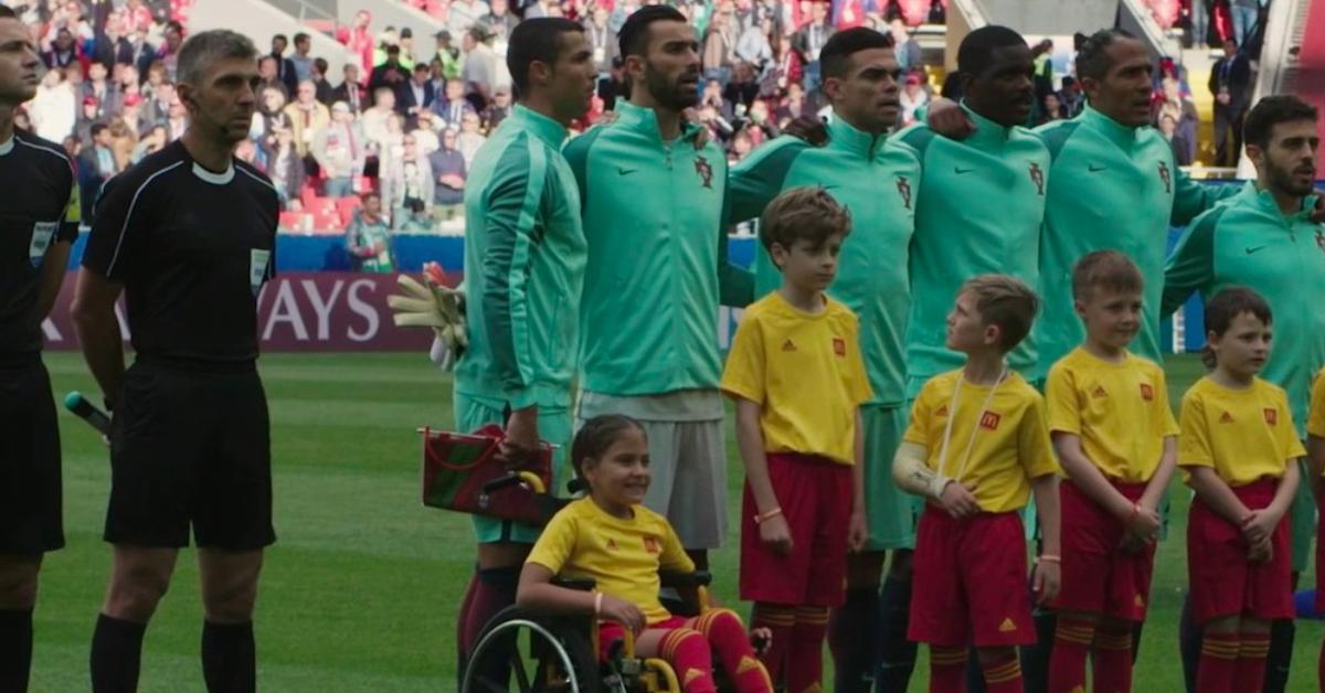
{"type": "MultiPolygon", "coordinates": [[[[708,572],[661,572],[660,578],[662,604],[673,615],[700,616],[710,608],[708,586],[712,576],[708,572]]],[[[594,588],[592,580],[558,579],[555,583],[572,590],[594,588]]],[[[590,616],[549,616],[518,606],[507,607],[480,633],[460,690],[681,693],[672,665],[657,657],[637,656],[629,631],[624,640],[612,643],[606,656],[598,633],[598,623],[590,616]]],[[[713,678],[718,690],[731,690],[717,661],[713,678]]]]}

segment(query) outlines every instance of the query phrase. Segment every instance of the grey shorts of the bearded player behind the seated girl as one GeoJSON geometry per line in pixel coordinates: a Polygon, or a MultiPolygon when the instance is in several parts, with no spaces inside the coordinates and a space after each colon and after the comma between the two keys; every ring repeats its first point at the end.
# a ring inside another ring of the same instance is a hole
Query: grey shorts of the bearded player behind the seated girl
{"type": "Polygon", "coordinates": [[[612,396],[584,392],[575,428],[604,413],[639,419],[649,439],[652,481],[644,505],[666,515],[690,550],[718,549],[727,531],[727,457],[717,391],[612,396]],[[717,411],[717,419],[705,419],[717,411]],[[662,419],[662,416],[673,419],[662,419]]]}

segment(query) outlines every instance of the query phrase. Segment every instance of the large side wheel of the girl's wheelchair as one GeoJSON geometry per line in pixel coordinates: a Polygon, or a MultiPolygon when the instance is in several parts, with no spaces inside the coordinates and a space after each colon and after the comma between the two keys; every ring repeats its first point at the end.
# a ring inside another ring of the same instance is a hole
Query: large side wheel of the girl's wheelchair
{"type": "Polygon", "coordinates": [[[509,607],[478,636],[461,693],[599,693],[598,659],[584,620],[509,607]]]}

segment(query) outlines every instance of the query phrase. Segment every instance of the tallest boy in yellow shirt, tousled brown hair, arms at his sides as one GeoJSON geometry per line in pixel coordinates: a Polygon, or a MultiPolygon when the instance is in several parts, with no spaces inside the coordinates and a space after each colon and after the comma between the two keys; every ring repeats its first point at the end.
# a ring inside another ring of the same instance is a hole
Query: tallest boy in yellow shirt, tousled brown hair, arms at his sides
{"type": "Polygon", "coordinates": [[[768,204],[759,241],[782,288],[746,310],[722,374],[746,466],[741,599],[771,631],[762,659],[791,693],[823,685],[828,608],[867,538],[860,405],[872,394],[856,315],[824,293],[851,227],[823,188],[768,204]]]}

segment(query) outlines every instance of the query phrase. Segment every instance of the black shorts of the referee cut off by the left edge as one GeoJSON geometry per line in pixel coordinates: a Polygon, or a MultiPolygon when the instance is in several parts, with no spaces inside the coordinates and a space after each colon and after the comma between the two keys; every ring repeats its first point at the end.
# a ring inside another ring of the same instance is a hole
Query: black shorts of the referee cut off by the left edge
{"type": "Polygon", "coordinates": [[[41,356],[0,363],[0,554],[65,546],[60,428],[41,356]]]}

